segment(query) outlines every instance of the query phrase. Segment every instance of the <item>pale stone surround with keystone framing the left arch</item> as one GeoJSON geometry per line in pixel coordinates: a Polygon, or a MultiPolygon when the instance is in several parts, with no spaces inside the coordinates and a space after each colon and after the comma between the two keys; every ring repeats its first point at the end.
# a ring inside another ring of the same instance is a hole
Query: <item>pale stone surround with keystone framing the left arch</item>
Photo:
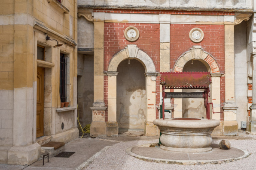
{"type": "MultiPolygon", "coordinates": [[[[145,115],[144,121],[144,134],[146,136],[155,136],[157,135],[157,126],[153,124],[153,120],[156,118],[156,77],[158,73],[155,71],[155,65],[153,60],[142,50],[140,50],[136,45],[128,45],[124,50],[117,53],[110,60],[108,65],[108,70],[105,72],[107,77],[107,119],[108,123],[118,124],[117,117],[117,68],[119,64],[123,61],[128,62],[128,60],[134,60],[134,62],[139,62],[144,67],[146,72],[144,75],[145,79],[145,97],[146,97],[146,112],[142,113],[139,111],[140,117],[145,115]],[[137,61],[135,61],[137,60],[137,61]]],[[[131,64],[131,61],[130,61],[131,64]]],[[[140,65],[140,67],[141,67],[140,65]]],[[[136,97],[135,97],[136,98],[136,97]]],[[[122,127],[122,126],[121,126],[122,127]]],[[[140,126],[141,127],[141,126],[140,126]]]]}

